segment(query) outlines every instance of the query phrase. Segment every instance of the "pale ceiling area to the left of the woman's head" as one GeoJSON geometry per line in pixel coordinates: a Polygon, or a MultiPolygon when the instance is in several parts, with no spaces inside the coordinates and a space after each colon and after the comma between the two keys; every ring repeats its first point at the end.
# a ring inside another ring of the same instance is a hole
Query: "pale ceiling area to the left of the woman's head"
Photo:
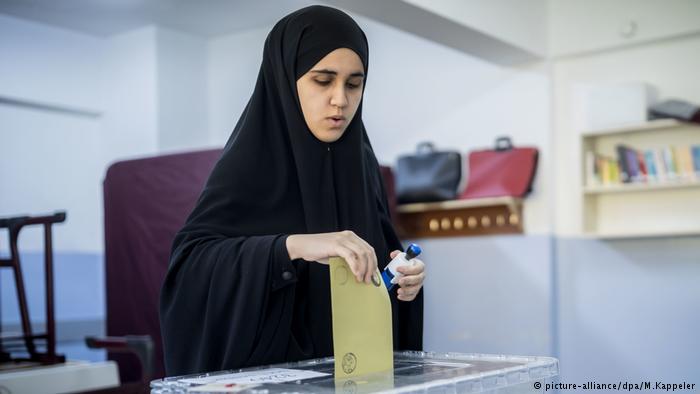
{"type": "Polygon", "coordinates": [[[211,37],[270,26],[309,0],[0,0],[0,13],[95,36],[159,25],[211,37]]]}

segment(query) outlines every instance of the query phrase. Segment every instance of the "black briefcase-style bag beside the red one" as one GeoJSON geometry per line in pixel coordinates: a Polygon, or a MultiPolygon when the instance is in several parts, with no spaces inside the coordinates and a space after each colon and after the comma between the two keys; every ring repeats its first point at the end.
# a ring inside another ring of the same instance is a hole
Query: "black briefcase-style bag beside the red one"
{"type": "Polygon", "coordinates": [[[436,151],[430,142],[418,144],[416,154],[399,157],[396,197],[399,204],[457,198],[462,157],[457,151],[436,151]]]}

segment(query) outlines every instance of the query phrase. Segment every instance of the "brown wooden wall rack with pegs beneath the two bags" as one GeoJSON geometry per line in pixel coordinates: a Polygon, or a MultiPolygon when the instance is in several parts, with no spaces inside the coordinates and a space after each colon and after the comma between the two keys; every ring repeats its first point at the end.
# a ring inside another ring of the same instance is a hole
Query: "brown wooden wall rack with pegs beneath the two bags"
{"type": "Polygon", "coordinates": [[[521,234],[522,198],[492,197],[397,207],[404,238],[521,234]]]}

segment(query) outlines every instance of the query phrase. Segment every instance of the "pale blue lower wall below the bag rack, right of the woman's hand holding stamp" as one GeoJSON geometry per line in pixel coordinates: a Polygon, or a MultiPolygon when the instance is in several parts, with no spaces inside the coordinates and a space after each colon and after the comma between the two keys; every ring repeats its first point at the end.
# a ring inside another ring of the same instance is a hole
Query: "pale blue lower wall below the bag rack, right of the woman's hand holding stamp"
{"type": "Polygon", "coordinates": [[[426,351],[555,354],[551,237],[415,242],[425,250],[426,351]]]}

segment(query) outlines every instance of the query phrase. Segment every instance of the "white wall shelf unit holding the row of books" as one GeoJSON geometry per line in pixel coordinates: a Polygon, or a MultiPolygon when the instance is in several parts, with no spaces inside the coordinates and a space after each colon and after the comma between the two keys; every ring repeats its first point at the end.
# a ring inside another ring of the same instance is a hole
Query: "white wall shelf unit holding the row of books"
{"type": "MultiPolygon", "coordinates": [[[[582,131],[579,163],[588,178],[587,152],[615,158],[617,146],[638,150],[700,144],[700,125],[672,119],[582,131]]],[[[588,184],[581,187],[581,233],[594,239],[700,236],[700,179],[588,184]]]]}

